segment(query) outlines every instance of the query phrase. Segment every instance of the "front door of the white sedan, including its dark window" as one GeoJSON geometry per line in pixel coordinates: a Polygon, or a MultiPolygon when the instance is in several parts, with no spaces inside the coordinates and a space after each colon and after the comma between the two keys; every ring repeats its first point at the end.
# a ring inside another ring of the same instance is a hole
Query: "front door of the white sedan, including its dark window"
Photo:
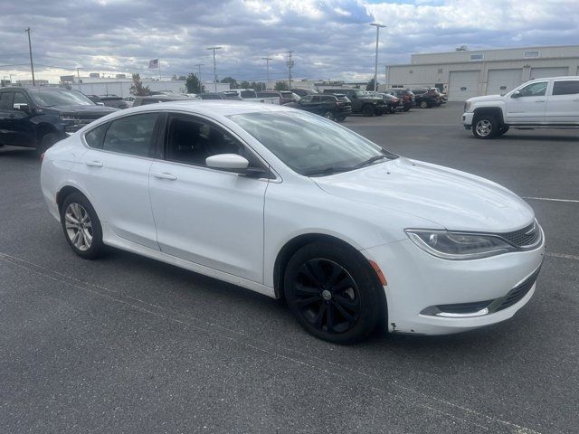
{"type": "Polygon", "coordinates": [[[172,114],[165,153],[151,167],[149,192],[161,251],[261,283],[266,179],[205,165],[207,156],[239,154],[265,165],[213,121],[172,114]]]}

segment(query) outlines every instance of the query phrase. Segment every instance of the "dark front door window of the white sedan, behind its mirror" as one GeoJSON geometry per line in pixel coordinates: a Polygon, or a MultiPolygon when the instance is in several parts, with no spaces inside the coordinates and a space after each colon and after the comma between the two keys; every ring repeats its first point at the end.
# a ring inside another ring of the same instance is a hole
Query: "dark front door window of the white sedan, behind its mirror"
{"type": "Polygon", "coordinates": [[[187,165],[205,165],[208,156],[237,154],[260,166],[259,160],[239,141],[200,118],[171,118],[166,135],[166,160],[187,165]]]}

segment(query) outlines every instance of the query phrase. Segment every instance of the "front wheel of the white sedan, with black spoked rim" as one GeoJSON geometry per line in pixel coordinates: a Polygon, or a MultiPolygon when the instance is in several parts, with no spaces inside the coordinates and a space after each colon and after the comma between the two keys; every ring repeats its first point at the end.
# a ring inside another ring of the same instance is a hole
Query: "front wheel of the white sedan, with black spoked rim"
{"type": "Polygon", "coordinates": [[[334,344],[363,340],[386,313],[384,288],[367,260],[327,241],[312,242],[289,259],[284,295],[308,333],[334,344]]]}

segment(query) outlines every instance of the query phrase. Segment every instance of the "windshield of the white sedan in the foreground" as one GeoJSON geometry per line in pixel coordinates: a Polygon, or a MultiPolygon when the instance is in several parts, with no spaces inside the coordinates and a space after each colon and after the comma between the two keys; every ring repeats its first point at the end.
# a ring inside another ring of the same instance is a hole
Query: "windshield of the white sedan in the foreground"
{"type": "Polygon", "coordinates": [[[299,175],[331,175],[397,157],[335,122],[309,113],[258,112],[229,118],[299,175]]]}

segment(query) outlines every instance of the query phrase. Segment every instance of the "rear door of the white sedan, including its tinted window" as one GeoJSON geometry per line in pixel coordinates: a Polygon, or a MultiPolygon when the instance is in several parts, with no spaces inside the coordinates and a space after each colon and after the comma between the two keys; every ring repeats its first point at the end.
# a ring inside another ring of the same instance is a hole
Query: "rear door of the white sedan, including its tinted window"
{"type": "MultiPolygon", "coordinates": [[[[75,165],[103,229],[159,250],[148,195],[148,174],[165,114],[117,118],[84,135],[88,151],[75,165]]],[[[106,235],[106,231],[105,231],[106,235]]]]}

